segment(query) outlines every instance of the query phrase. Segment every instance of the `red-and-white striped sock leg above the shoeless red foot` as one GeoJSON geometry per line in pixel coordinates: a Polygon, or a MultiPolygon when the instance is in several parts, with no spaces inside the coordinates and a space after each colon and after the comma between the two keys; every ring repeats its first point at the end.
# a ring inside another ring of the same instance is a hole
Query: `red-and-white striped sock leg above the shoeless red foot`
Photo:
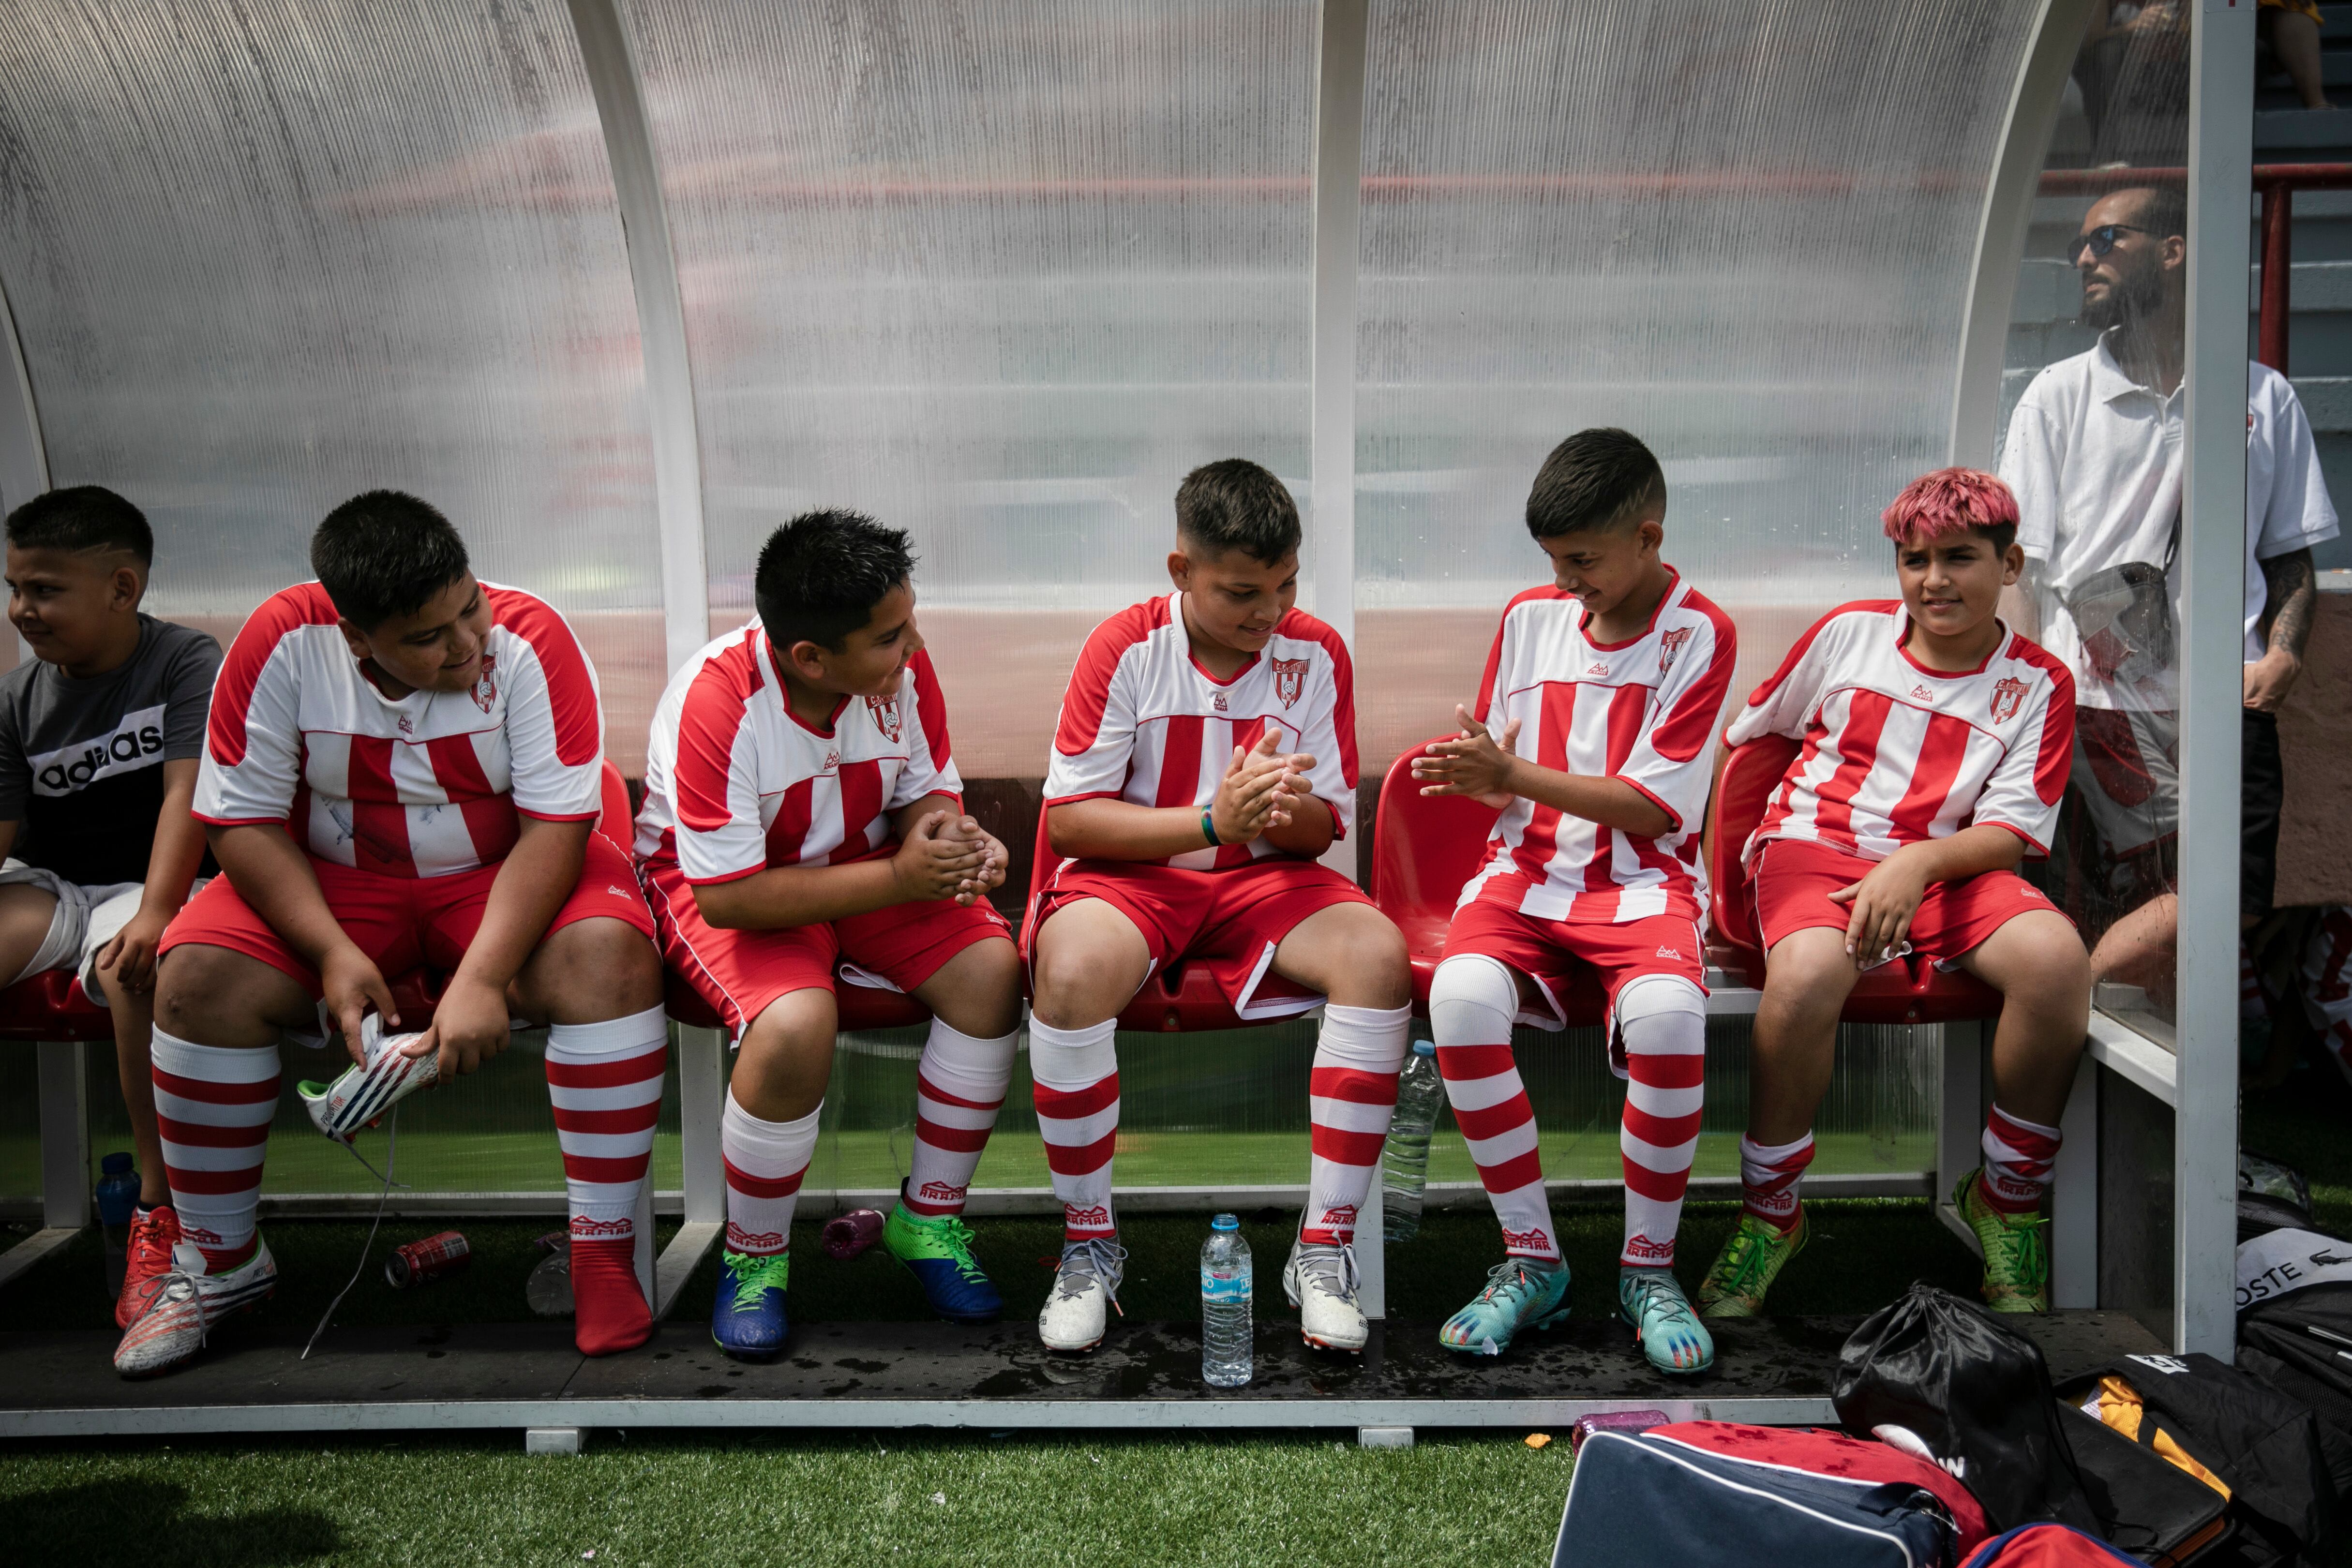
{"type": "Polygon", "coordinates": [[[635,1241],[637,1192],[654,1164],[670,1020],[659,1006],[548,1030],[548,1100],[564,1152],[572,1244],[635,1241]]]}

